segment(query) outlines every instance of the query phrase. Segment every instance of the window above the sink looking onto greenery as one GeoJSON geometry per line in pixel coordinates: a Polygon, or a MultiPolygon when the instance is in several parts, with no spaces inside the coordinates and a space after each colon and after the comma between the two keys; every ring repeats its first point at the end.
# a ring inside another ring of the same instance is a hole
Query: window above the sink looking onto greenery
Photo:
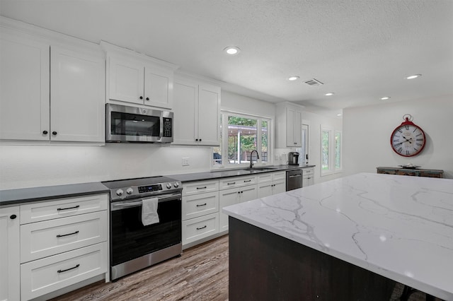
{"type": "Polygon", "coordinates": [[[270,119],[265,117],[222,112],[220,146],[214,147],[213,167],[249,165],[250,160],[268,163],[270,157],[270,119]],[[259,159],[256,158],[258,151],[259,159]]]}

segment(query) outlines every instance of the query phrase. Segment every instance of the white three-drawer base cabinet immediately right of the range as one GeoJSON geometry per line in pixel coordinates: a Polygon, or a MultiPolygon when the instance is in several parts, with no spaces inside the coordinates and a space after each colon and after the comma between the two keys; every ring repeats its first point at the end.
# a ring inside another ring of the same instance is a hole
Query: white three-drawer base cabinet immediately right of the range
{"type": "Polygon", "coordinates": [[[219,181],[183,184],[183,248],[219,233],[219,181]]]}

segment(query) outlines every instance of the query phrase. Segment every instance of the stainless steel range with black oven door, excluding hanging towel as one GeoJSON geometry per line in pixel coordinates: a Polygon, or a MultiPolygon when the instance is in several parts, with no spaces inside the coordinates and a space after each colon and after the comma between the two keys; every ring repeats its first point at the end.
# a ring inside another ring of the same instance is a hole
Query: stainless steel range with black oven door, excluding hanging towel
{"type": "Polygon", "coordinates": [[[168,177],[145,177],[103,184],[110,189],[111,280],[183,252],[181,182],[168,177]],[[159,223],[144,225],[142,203],[150,198],[158,199],[159,223]]]}

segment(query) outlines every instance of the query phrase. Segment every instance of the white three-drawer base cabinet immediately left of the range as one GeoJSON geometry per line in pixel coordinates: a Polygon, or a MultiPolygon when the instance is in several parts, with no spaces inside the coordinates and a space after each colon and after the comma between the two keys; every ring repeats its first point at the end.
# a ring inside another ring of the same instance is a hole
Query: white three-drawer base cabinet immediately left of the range
{"type": "Polygon", "coordinates": [[[107,208],[107,194],[21,205],[21,300],[102,274],[109,279],[107,208]]]}

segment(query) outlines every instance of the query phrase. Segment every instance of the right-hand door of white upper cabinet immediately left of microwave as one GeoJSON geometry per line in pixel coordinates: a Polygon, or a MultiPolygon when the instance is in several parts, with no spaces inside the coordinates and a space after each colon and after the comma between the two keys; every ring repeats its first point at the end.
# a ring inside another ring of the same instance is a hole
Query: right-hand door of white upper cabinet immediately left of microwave
{"type": "Polygon", "coordinates": [[[52,141],[105,141],[104,59],[50,49],[52,141]]]}

